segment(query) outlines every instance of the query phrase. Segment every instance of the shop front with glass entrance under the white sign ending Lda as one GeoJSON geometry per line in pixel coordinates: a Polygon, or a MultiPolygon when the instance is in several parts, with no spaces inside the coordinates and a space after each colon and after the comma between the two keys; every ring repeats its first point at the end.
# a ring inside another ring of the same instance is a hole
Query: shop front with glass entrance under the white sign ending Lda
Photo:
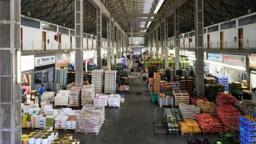
{"type": "Polygon", "coordinates": [[[44,84],[46,90],[50,90],[51,83],[54,81],[55,55],[35,57],[34,87],[38,89],[44,84]]]}

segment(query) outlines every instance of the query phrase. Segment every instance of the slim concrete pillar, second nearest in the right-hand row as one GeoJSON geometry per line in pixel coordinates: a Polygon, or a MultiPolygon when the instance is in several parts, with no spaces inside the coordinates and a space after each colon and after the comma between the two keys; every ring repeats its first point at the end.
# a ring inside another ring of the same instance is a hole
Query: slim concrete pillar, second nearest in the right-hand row
{"type": "Polygon", "coordinates": [[[180,23],[179,8],[174,9],[174,40],[175,40],[175,69],[180,69],[180,23]]]}

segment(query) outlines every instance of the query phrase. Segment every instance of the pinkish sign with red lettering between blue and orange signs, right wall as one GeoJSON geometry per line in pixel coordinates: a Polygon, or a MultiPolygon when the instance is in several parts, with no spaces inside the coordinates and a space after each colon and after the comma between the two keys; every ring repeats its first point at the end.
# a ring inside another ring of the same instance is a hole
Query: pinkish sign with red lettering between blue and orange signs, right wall
{"type": "Polygon", "coordinates": [[[229,55],[223,54],[223,63],[233,66],[246,67],[245,55],[229,55]]]}

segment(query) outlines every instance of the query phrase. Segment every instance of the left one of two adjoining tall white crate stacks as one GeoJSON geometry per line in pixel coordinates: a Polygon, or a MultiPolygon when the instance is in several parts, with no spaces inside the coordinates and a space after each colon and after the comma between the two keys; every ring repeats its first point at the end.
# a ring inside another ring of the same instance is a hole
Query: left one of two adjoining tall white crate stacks
{"type": "Polygon", "coordinates": [[[103,91],[103,70],[93,70],[91,72],[91,84],[94,85],[96,93],[103,91]]]}

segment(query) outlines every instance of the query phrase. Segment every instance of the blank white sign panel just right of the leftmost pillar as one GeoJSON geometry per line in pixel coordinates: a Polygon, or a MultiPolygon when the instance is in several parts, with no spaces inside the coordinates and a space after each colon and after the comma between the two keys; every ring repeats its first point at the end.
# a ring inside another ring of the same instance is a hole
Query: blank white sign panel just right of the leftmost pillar
{"type": "Polygon", "coordinates": [[[28,71],[34,69],[34,55],[21,57],[21,71],[28,71]]]}

